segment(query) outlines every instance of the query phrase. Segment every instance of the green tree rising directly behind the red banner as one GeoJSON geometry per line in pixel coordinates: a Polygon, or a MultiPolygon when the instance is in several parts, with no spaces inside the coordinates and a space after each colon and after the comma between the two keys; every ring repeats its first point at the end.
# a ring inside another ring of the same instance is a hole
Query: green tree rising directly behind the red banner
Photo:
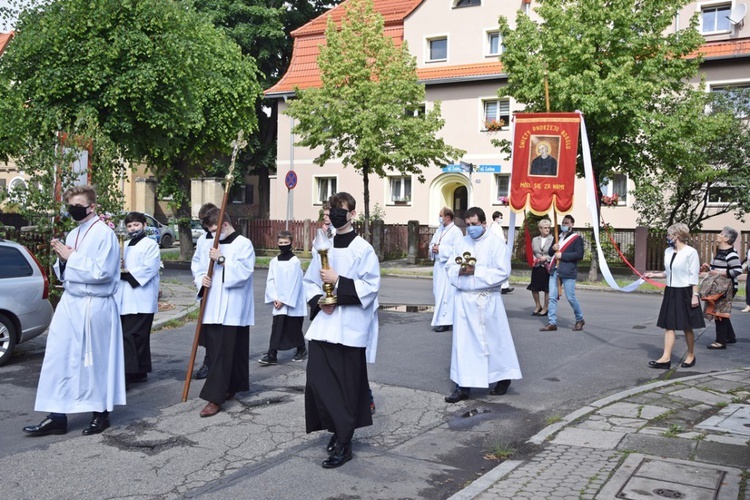
{"type": "MultiPolygon", "coordinates": [[[[551,111],[584,113],[595,185],[615,173],[638,183],[654,159],[649,138],[659,117],[672,96],[692,90],[688,79],[698,72],[700,58],[688,57],[703,43],[697,16],[687,29],[670,30],[686,3],[540,0],[540,22],[519,11],[511,29],[500,17],[508,86],[499,93],[543,112],[546,78],[551,111]]],[[[497,144],[510,151],[507,141],[497,144]]]]}

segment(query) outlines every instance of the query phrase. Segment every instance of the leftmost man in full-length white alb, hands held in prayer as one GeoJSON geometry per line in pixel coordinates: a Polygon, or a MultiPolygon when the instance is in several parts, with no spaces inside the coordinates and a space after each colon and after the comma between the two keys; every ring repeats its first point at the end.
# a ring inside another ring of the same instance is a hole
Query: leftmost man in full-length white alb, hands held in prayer
{"type": "Polygon", "coordinates": [[[34,405],[50,413],[39,425],[24,427],[32,436],[65,434],[67,414],[81,412],[93,413],[83,434],[98,434],[109,427],[114,406],[125,404],[117,237],[99,220],[91,186],[69,188],[63,199],[78,227],[64,243],[52,241],[55,274],[65,291],[50,324],[34,405]]]}

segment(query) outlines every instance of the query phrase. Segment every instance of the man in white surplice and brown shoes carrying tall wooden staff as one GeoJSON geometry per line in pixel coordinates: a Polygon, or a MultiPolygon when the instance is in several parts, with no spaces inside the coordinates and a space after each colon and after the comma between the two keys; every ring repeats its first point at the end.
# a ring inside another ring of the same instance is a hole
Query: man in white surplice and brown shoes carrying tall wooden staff
{"type": "Polygon", "coordinates": [[[249,239],[234,230],[228,215],[219,228],[219,209],[208,212],[206,226],[218,248],[207,248],[200,258],[196,281],[199,295],[208,291],[203,326],[208,353],[208,377],[200,397],[208,401],[201,417],[221,411],[235,393],[250,389],[250,326],[255,324],[253,272],[255,249],[249,239]],[[214,261],[208,277],[209,261],[214,261]]]}

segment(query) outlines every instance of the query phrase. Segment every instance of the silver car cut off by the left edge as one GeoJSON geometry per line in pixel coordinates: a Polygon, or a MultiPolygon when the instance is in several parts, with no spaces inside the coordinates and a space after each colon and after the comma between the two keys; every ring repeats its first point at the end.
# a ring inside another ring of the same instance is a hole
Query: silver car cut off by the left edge
{"type": "Polygon", "coordinates": [[[47,273],[26,247],[0,238],[0,366],[51,321],[47,273]]]}

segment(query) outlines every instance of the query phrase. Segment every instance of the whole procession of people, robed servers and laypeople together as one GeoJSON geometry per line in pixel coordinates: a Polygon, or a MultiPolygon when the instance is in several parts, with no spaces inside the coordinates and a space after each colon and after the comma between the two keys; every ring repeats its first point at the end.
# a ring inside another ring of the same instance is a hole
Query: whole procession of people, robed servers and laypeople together
{"type": "MultiPolygon", "coordinates": [[[[84,435],[105,431],[110,412],[126,404],[131,384],[146,382],[152,370],[150,334],[158,308],[161,261],[156,243],[147,237],[145,216],[130,212],[124,217],[129,239],[118,248],[115,232],[99,223],[91,186],[68,189],[64,200],[78,227],[64,242],[53,240],[51,245],[57,256],[54,270],[65,291],[50,326],[37,388],[35,410],[47,416],[24,427],[30,436],[65,434],[67,415],[80,412],[92,414],[84,435]]],[[[354,229],[356,200],[349,193],[334,194],[324,209],[306,271],[294,254],[292,233],[277,235],[279,254],[270,262],[265,287],[273,322],[268,349],[258,362],[276,365],[279,351],[290,349],[295,350],[292,361],[307,360],[306,431],[328,431],[322,466],[337,468],[353,458],[356,429],[373,423],[367,365],[375,362],[377,353],[380,264],[373,247],[354,229]],[[305,316],[310,320],[306,332],[305,316]]],[[[430,245],[435,296],[431,324],[436,332],[452,331],[451,357],[445,360],[455,384],[445,397],[450,404],[470,398],[473,388],[502,396],[522,377],[502,297],[511,275],[511,250],[499,225],[502,218],[495,212],[494,222],[488,224],[479,207],[461,215],[466,234],[455,225],[454,212],[442,208],[430,245]]],[[[197,300],[205,302],[197,330],[205,360],[196,379],[205,379],[200,398],[206,404],[199,415],[207,418],[250,388],[255,249],[217,206],[203,205],[200,217],[206,233],[196,244],[191,270],[197,300]]],[[[533,240],[529,289],[536,304],[533,315],[543,316],[549,309],[548,324],[541,329],[545,332],[557,330],[558,282],[575,314],[573,330],[585,325],[575,297],[583,243],[573,223],[566,215],[559,227],[562,235],[553,241],[550,221],[542,219],[540,236],[533,240]],[[544,301],[540,291],[548,295],[544,301]]],[[[690,358],[682,366],[695,365],[692,329],[705,323],[697,308],[699,263],[695,250],[686,245],[688,235],[684,225],[671,227],[665,273],[645,274],[668,281],[657,322],[666,329],[664,355],[651,361],[651,368],[670,368],[678,329],[685,331],[690,358]],[[683,261],[684,272],[679,267],[683,261]]],[[[702,269],[715,281],[724,280],[722,286],[731,292],[737,290],[741,272],[732,247],[736,238],[735,230],[724,228],[717,237],[719,253],[702,269]]],[[[725,305],[717,304],[712,314],[717,342],[709,349],[725,349],[735,341],[725,305]]]]}

